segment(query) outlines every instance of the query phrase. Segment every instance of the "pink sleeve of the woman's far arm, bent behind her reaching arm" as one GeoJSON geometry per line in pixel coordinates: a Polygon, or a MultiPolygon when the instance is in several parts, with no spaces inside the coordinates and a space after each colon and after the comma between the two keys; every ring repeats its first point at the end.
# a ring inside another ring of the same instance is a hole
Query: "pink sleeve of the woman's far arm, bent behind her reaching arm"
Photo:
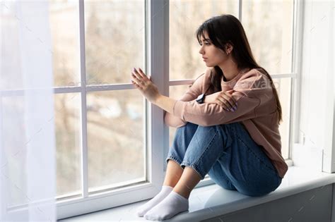
{"type": "MultiPolygon", "coordinates": [[[[192,85],[189,86],[189,89],[187,90],[187,92],[184,93],[184,95],[182,96],[181,99],[179,99],[179,101],[192,101],[196,99],[196,97],[198,97],[199,94],[202,93],[204,77],[205,73],[199,75],[199,77],[194,80],[192,85]]],[[[174,116],[172,113],[168,113],[167,111],[164,111],[164,122],[166,125],[175,128],[180,128],[183,125],[186,125],[187,123],[187,121],[184,121],[182,120],[182,118],[174,116]]]]}

